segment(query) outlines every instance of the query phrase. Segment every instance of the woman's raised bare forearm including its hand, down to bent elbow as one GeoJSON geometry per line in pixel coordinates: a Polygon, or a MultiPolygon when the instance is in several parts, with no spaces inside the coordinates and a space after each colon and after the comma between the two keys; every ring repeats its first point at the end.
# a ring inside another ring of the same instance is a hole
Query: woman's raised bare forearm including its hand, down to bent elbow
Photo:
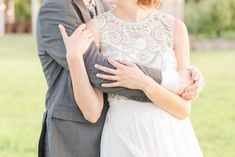
{"type": "Polygon", "coordinates": [[[63,26],[60,26],[60,31],[67,50],[66,58],[76,103],[84,118],[95,123],[103,109],[103,93],[90,84],[83,61],[83,54],[93,41],[92,33],[85,30],[85,25],[79,26],[71,36],[67,35],[63,26]]]}

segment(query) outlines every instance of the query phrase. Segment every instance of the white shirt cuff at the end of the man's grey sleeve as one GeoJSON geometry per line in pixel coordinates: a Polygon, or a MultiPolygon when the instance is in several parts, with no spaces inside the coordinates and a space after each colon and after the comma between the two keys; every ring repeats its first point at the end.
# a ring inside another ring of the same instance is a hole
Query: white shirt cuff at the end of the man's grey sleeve
{"type": "Polygon", "coordinates": [[[179,75],[177,71],[169,70],[162,72],[161,85],[171,92],[178,93],[179,90],[179,75]]]}

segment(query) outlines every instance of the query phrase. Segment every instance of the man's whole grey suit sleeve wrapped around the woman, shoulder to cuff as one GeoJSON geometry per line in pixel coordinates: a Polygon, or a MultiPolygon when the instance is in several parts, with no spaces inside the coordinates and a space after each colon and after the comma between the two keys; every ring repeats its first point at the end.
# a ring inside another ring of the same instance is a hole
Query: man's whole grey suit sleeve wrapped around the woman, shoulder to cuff
{"type": "MultiPolygon", "coordinates": [[[[69,71],[69,65],[66,60],[66,49],[59,32],[58,25],[62,24],[66,28],[69,35],[76,30],[76,28],[81,24],[81,21],[74,11],[74,8],[70,4],[63,5],[56,1],[45,2],[40,9],[38,21],[38,29],[40,31],[38,41],[43,44],[43,49],[45,49],[48,55],[56,61],[61,68],[69,71]]],[[[96,74],[98,73],[98,70],[94,67],[96,63],[109,68],[114,68],[108,63],[107,58],[100,54],[95,44],[92,43],[84,54],[84,64],[86,66],[90,82],[93,86],[105,93],[119,94],[137,101],[150,101],[143,91],[140,90],[130,90],[124,87],[102,87],[102,83],[109,83],[110,81],[96,77],[96,74]]],[[[139,67],[146,75],[150,76],[158,83],[161,83],[161,71],[144,66],[139,67]]]]}

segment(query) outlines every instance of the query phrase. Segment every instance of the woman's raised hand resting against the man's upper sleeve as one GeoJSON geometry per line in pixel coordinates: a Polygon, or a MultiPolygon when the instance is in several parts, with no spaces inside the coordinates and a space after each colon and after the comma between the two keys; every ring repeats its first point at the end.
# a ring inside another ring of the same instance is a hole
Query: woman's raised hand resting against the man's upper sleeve
{"type": "Polygon", "coordinates": [[[86,29],[86,25],[80,25],[71,36],[68,36],[63,25],[59,25],[61,35],[66,47],[67,60],[76,60],[82,58],[88,47],[94,40],[91,31],[86,29]]]}

